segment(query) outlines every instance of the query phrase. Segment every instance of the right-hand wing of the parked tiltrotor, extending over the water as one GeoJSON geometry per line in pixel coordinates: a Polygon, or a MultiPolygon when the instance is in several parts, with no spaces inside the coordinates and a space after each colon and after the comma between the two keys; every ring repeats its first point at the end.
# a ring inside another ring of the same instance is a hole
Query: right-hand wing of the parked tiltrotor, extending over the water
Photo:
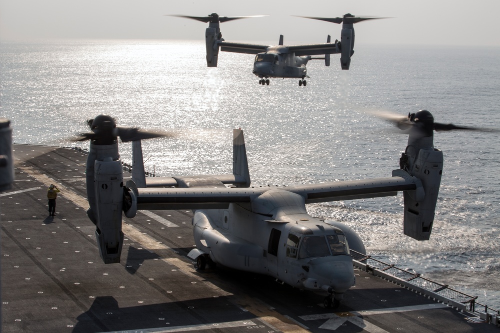
{"type": "MultiPolygon", "coordinates": [[[[399,170],[397,170],[399,171],[399,170]]],[[[410,175],[347,180],[330,183],[290,186],[286,189],[305,198],[306,204],[361,198],[386,197],[398,191],[416,190],[417,184],[410,175]]]]}

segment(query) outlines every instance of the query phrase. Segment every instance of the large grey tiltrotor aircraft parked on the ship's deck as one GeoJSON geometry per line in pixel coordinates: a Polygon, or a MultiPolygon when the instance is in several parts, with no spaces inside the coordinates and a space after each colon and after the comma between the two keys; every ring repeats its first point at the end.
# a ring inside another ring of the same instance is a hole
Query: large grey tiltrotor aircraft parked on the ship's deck
{"type": "Polygon", "coordinates": [[[141,139],[165,133],[116,127],[107,115],[91,121],[86,164],[89,219],[104,263],[120,261],[122,211],[192,209],[196,248],[189,252],[199,269],[206,264],[269,275],[290,286],[325,296],[336,307],[355,283],[350,250],[365,254],[348,226],[307,214],[306,204],[396,195],[403,192],[403,232],[428,240],[443,166],[433,147],[433,130],[471,129],[434,123],[420,110],[390,118],[408,134],[408,145],[391,176],[287,187],[250,187],[243,131],[233,131],[231,174],[181,177],[144,176],[141,139]],[[133,141],[132,180],[123,184],[117,137],[133,141]],[[227,187],[232,184],[232,187],[227,187]]]}

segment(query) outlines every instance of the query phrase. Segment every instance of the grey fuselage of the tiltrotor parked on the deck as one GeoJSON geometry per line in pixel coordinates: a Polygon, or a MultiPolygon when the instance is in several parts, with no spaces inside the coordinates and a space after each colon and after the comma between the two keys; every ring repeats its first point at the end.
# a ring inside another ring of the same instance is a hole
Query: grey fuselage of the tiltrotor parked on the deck
{"type": "Polygon", "coordinates": [[[251,204],[197,210],[192,224],[191,258],[204,253],[216,264],[269,275],[335,301],[355,283],[342,230],[309,216],[303,198],[291,192],[270,190],[251,204]]]}

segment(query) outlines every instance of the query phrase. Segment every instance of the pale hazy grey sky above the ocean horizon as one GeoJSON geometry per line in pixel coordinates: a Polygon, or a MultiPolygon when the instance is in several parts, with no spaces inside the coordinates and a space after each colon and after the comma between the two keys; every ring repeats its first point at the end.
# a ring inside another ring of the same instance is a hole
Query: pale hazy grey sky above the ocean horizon
{"type": "Polygon", "coordinates": [[[340,25],[291,15],[392,17],[355,25],[356,43],[500,46],[499,0],[0,0],[0,39],[204,39],[207,24],[164,16],[267,14],[221,24],[226,41],[323,42],[340,25]]]}

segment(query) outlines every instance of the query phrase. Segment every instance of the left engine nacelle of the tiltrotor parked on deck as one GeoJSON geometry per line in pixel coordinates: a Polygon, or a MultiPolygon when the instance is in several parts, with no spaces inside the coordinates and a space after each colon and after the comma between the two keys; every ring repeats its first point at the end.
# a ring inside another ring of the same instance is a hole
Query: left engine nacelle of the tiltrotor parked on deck
{"type": "Polygon", "coordinates": [[[96,230],[99,254],[105,264],[119,263],[123,233],[121,211],[123,203],[123,172],[120,160],[106,157],[94,162],[96,199],[96,230]]]}

